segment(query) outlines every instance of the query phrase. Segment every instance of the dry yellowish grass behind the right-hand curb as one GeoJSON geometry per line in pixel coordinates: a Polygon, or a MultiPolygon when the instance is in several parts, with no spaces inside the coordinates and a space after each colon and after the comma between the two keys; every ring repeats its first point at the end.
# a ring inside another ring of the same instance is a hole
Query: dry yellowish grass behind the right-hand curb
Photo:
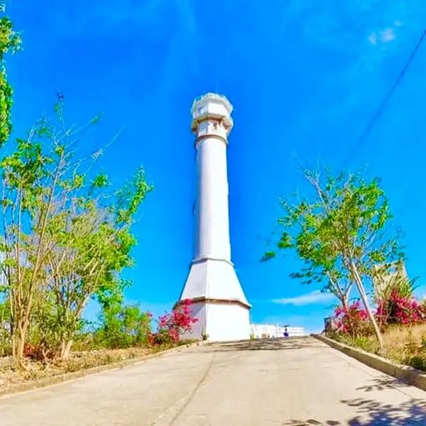
{"type": "MultiPolygon", "coordinates": [[[[352,338],[337,334],[330,337],[349,346],[356,346],[373,354],[378,353],[376,338],[373,336],[352,338]]],[[[386,358],[426,371],[426,324],[391,327],[383,334],[383,340],[385,351],[382,355],[386,358]]]]}

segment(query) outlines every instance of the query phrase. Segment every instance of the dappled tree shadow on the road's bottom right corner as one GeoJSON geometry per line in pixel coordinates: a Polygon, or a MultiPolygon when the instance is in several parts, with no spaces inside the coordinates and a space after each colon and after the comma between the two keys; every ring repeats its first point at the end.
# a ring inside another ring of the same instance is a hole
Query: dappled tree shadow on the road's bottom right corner
{"type": "Polygon", "coordinates": [[[400,405],[388,405],[376,400],[356,398],[342,400],[341,403],[355,407],[356,417],[345,422],[339,420],[288,420],[287,426],[425,426],[426,401],[411,399],[400,405]]]}

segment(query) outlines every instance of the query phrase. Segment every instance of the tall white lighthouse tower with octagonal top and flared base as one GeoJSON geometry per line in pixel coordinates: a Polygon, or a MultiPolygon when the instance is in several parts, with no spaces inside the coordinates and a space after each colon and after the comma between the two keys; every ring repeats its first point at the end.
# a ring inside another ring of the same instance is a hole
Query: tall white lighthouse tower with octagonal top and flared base
{"type": "Polygon", "coordinates": [[[226,97],[207,93],[192,104],[192,132],[197,151],[195,247],[182,300],[192,301],[197,317],[191,337],[209,340],[249,339],[251,305],[234,265],[229,240],[226,148],[232,129],[232,105],[226,97]]]}

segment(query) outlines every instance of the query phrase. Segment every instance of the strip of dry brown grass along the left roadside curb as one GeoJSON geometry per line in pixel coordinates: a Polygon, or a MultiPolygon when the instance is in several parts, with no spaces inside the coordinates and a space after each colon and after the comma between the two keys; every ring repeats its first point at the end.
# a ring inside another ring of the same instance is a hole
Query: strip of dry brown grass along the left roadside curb
{"type": "Polygon", "coordinates": [[[100,349],[97,351],[74,352],[67,361],[53,361],[47,365],[35,361],[26,361],[26,371],[8,362],[0,366],[0,389],[15,385],[16,383],[59,376],[60,374],[72,373],[73,371],[114,364],[126,359],[139,358],[152,352],[153,349],[146,348],[100,349]]]}

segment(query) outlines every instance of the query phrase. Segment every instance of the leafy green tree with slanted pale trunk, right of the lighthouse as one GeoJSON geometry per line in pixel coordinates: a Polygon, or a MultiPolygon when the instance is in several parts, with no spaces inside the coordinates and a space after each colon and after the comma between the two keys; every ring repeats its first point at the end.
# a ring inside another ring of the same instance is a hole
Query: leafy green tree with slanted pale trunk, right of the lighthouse
{"type": "MultiPolygon", "coordinates": [[[[325,282],[336,294],[334,283],[354,283],[373,325],[380,349],[383,338],[371,310],[366,283],[371,283],[375,266],[390,265],[403,258],[399,233],[390,228],[388,200],[377,178],[341,173],[334,177],[304,172],[313,189],[312,197],[282,200],[284,215],[278,219],[278,250],[295,249],[305,268],[295,278],[325,282]]],[[[268,251],[263,260],[275,257],[268,251]]]]}

